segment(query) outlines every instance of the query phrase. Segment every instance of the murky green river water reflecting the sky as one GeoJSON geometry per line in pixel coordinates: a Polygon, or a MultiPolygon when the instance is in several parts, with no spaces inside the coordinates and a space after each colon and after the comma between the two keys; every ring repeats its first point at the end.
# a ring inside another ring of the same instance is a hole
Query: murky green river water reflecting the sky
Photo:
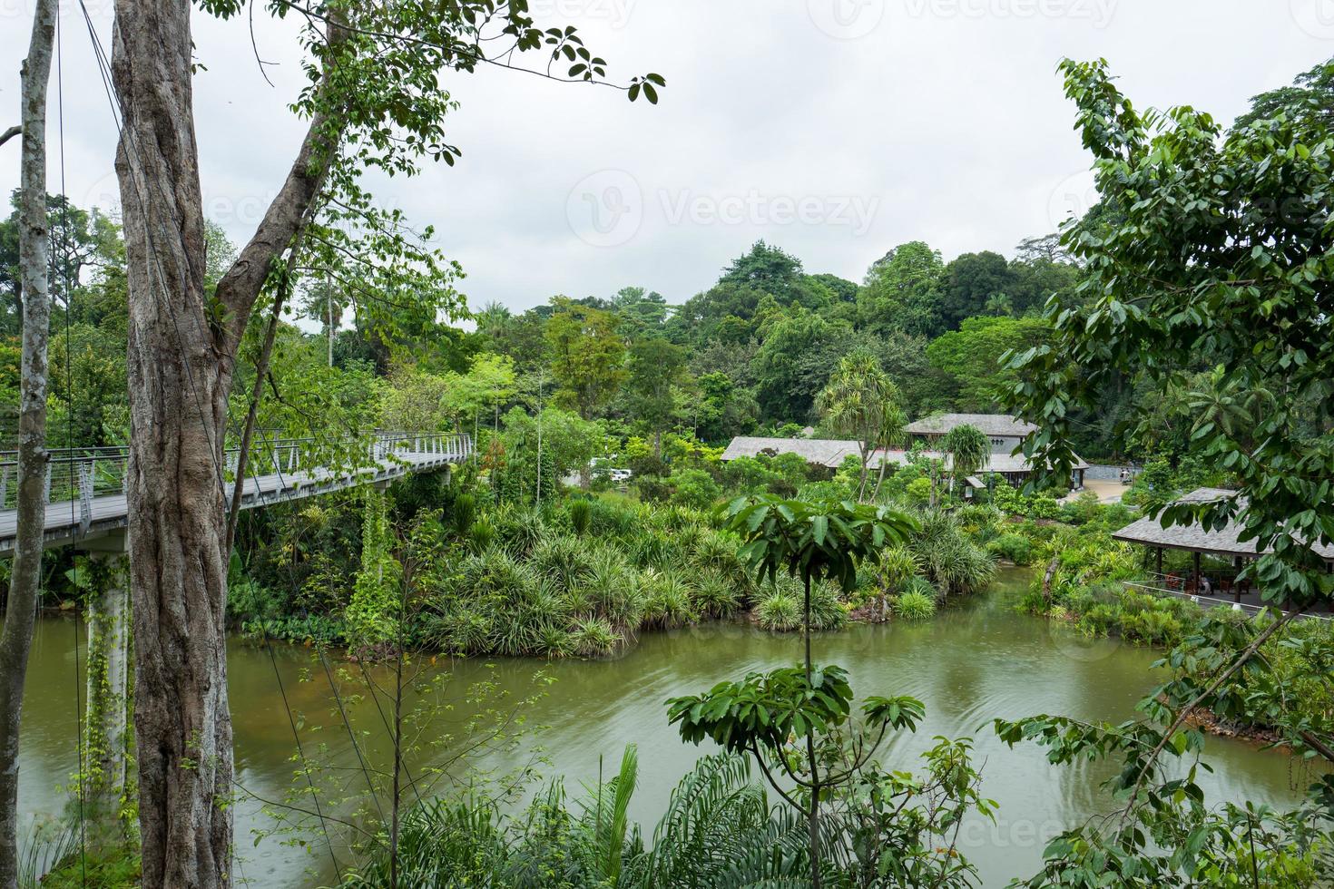
{"type": "MultiPolygon", "coordinates": [[[[1017,613],[1010,606],[1015,588],[1027,582],[1022,572],[1003,573],[996,589],[959,609],[918,625],[858,625],[815,641],[816,660],[846,666],[859,694],[912,694],[927,705],[927,720],[915,736],[895,738],[882,761],[914,768],[916,754],[936,734],[972,736],[983,766],[983,793],[999,802],[992,825],[974,821],[962,832],[962,852],[980,869],[983,885],[1002,886],[1013,876],[1027,876],[1041,861],[1046,840],[1063,825],[1103,810],[1107,800],[1098,785],[1107,770],[1098,765],[1051,766],[1037,746],[1010,750],[990,730],[994,717],[1063,713],[1085,720],[1122,720],[1154,684],[1151,649],[1115,640],[1087,642],[1069,630],[1017,613]]],[[[59,812],[77,762],[75,745],[75,624],[40,621],[24,704],[20,809],[23,824],[59,812]]],[[[639,746],[639,788],[631,814],[647,836],[666,805],[671,788],[707,748],[683,745],[667,725],[663,701],[674,694],[707,689],[724,677],[794,662],[795,636],[772,636],[748,625],[715,624],[670,633],[644,634],[623,657],[610,661],[530,660],[462,661],[452,665],[454,684],[463,686],[494,674],[502,688],[528,694],[538,670],[555,681],[527,713],[546,728],[523,752],[494,754],[487,765],[514,768],[527,761],[532,744],[551,760],[546,776],[563,774],[578,792],[579,782],[596,781],[599,756],[614,774],[628,742],[639,746]]],[[[307,750],[319,740],[335,761],[355,765],[346,732],[332,720],[332,698],[323,673],[311,668],[309,649],[276,650],[279,670],[293,712],[300,714],[307,750]],[[307,681],[303,681],[307,680],[307,681]],[[316,681],[317,680],[317,681],[316,681]],[[324,725],[335,730],[312,732],[324,725]]],[[[444,664],[440,664],[444,668],[444,664]]],[[[260,646],[236,640],[229,650],[229,692],[235,725],[236,776],[253,793],[280,798],[291,786],[292,728],[275,678],[273,664],[260,646]]],[[[351,689],[348,689],[351,690],[351,689]]],[[[460,706],[462,718],[467,708],[460,706]]],[[[379,724],[374,705],[354,705],[354,721],[379,724]]],[[[447,730],[446,724],[440,730],[447,730]]],[[[383,746],[379,733],[370,744],[383,746]]],[[[1206,760],[1215,772],[1202,784],[1210,801],[1255,800],[1294,802],[1309,776],[1289,758],[1254,745],[1210,740],[1206,760]]],[[[420,764],[418,764],[420,765],[420,764]]],[[[252,846],[251,830],[267,824],[257,804],[241,802],[236,813],[237,848],[244,856],[239,876],[255,886],[320,885],[332,878],[327,849],[309,850],[275,840],[252,846]]]]}

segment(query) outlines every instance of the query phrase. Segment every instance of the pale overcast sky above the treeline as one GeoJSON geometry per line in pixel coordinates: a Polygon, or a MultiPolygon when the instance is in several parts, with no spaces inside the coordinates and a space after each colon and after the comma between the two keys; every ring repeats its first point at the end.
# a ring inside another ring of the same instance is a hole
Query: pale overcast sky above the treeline
{"type": "MultiPolygon", "coordinates": [[[[69,0],[64,0],[68,7],[69,0]]],[[[0,0],[0,128],[17,119],[31,0],[0,0]],[[15,120],[7,120],[15,117],[15,120]]],[[[1334,56],[1334,0],[535,0],[662,103],[503,71],[454,76],[463,149],[384,204],[463,264],[470,304],[515,309],[630,284],[680,303],[756,239],[808,272],[860,280],[895,244],[946,259],[1054,231],[1087,207],[1089,160],[1055,65],[1109,59],[1137,107],[1231,120],[1262,89],[1334,56]]],[[[89,0],[109,47],[112,0],[89,0]]],[[[115,129],[87,29],[63,13],[65,175],[80,205],[119,204],[115,129]]],[[[303,125],[287,24],[196,13],[195,113],[208,215],[253,231],[303,125]]],[[[52,91],[55,101],[55,89],[52,91]]],[[[52,105],[55,120],[55,105],[52,105]]],[[[55,127],[52,127],[55,139],[55,127]]],[[[52,143],[51,191],[59,191],[52,143]]],[[[17,140],[0,188],[19,181],[17,140]]]]}

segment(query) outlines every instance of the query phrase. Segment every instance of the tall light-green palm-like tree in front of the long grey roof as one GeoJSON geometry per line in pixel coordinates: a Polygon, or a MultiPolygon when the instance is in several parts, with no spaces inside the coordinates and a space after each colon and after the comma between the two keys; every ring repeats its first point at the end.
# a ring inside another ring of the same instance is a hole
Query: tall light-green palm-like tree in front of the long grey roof
{"type": "MultiPolygon", "coordinates": [[[[899,388],[880,368],[880,361],[860,351],[843,356],[830,376],[828,385],[815,400],[830,429],[856,439],[862,457],[858,500],[866,498],[871,454],[876,448],[887,448],[902,439],[906,417],[898,403],[899,388]]],[[[883,480],[884,460],[880,460],[880,481],[883,480]]],[[[876,493],[879,489],[876,482],[876,493]]]]}

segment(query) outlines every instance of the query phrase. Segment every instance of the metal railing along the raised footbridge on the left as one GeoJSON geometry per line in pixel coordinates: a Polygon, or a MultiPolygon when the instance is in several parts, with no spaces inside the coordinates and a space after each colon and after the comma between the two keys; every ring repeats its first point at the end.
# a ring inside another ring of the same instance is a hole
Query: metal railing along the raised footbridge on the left
{"type": "MultiPolygon", "coordinates": [[[[247,460],[247,476],[287,474],[331,469],[331,454],[350,456],[354,470],[363,465],[392,462],[396,457],[439,457],[440,462],[464,460],[472,454],[471,436],[430,432],[382,432],[370,443],[362,440],[328,441],[320,439],[265,439],[256,436],[247,460]],[[364,448],[364,449],[363,449],[364,448]],[[360,460],[358,460],[360,457],[360,460]]],[[[228,484],[236,480],[239,448],[225,450],[224,474],[228,484]]],[[[47,464],[47,504],[76,508],[80,521],[87,521],[92,501],[125,493],[129,448],[59,448],[51,450],[47,464]]],[[[340,468],[340,466],[339,466],[340,468]]],[[[19,454],[0,452],[0,510],[16,508],[19,454]]]]}

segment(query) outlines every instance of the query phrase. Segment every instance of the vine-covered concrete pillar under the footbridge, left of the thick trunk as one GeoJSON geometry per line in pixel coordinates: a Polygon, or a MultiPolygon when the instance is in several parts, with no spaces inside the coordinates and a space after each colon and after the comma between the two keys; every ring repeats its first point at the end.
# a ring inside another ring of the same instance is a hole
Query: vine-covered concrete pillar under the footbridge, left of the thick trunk
{"type": "Polygon", "coordinates": [[[83,786],[93,821],[113,829],[125,792],[129,556],[124,530],[80,542],[88,557],[88,710],[83,786]]]}

